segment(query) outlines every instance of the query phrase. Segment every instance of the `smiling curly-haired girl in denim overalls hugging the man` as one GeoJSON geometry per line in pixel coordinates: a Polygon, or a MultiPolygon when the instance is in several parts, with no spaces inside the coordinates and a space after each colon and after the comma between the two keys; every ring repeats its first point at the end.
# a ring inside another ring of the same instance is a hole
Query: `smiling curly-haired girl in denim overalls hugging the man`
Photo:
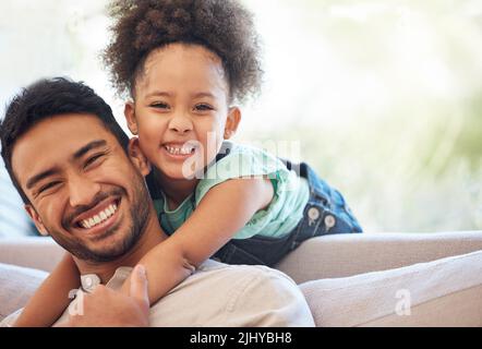
{"type": "MultiPolygon", "coordinates": [[[[132,98],[125,118],[138,140],[131,146],[154,166],[147,183],[171,234],[140,262],[152,303],[189,276],[186,264],[214,256],[272,266],[309,238],[362,231],[342,195],[306,164],[227,142],[241,120],[234,103],[261,80],[252,16],[241,4],[115,1],[111,13],[106,63],[132,98]]],[[[79,279],[72,264],[69,256],[61,262],[16,325],[55,322],[68,305],[64,294],[79,287],[61,282],[79,279]]]]}

